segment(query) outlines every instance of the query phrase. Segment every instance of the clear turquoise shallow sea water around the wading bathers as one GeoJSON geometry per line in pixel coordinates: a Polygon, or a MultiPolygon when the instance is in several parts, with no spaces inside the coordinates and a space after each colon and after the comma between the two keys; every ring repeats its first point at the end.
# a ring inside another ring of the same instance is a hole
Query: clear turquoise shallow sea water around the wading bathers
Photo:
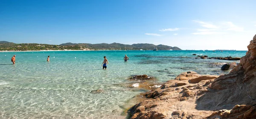
{"type": "Polygon", "coordinates": [[[125,105],[145,91],[126,86],[129,76],[151,75],[159,83],[186,71],[221,75],[229,72],[221,66],[233,62],[195,59],[194,53],[241,57],[246,51],[0,52],[0,118],[124,119],[125,105]],[[109,61],[107,70],[102,70],[103,56],[109,61]],[[103,91],[92,92],[98,89],[103,91]]]}

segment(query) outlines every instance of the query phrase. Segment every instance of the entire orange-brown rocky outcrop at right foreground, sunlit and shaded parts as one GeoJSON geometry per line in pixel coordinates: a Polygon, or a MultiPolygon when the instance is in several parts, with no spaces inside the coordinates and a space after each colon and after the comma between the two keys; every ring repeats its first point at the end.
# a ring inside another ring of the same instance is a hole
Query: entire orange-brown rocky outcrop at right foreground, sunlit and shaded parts
{"type": "Polygon", "coordinates": [[[129,110],[131,119],[256,119],[256,35],[229,74],[185,72],[141,95],[148,100],[129,110]]]}

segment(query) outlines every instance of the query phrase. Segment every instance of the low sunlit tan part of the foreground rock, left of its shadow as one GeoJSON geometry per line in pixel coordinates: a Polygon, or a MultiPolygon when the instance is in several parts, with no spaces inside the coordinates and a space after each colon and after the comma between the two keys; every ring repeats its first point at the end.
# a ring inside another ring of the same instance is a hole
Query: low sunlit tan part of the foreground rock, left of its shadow
{"type": "Polygon", "coordinates": [[[140,94],[153,100],[144,100],[134,105],[128,113],[132,115],[131,119],[189,119],[200,114],[202,115],[198,117],[206,118],[205,115],[210,115],[213,111],[197,111],[194,98],[205,94],[207,86],[217,77],[198,75],[192,71],[183,72],[176,80],[169,80],[158,89],[140,94]]]}

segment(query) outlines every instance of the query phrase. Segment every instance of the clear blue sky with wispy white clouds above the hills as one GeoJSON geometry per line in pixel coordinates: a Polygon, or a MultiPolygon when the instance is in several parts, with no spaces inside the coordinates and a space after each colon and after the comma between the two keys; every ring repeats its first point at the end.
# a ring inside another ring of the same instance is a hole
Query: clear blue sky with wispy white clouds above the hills
{"type": "Polygon", "coordinates": [[[0,41],[247,50],[256,0],[0,0],[0,41]]]}

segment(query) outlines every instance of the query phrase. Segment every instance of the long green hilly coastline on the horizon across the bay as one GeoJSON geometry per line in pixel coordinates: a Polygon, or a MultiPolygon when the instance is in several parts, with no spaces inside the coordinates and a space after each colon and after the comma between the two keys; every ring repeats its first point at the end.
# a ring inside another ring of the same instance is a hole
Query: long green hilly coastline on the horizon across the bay
{"type": "Polygon", "coordinates": [[[181,50],[178,47],[171,47],[167,45],[154,44],[120,44],[120,43],[101,43],[101,44],[87,44],[87,43],[64,43],[60,45],[52,44],[36,44],[36,43],[21,43],[15,44],[12,42],[0,41],[0,50],[12,51],[26,51],[26,50],[153,50],[157,47],[158,50],[181,50]]]}

